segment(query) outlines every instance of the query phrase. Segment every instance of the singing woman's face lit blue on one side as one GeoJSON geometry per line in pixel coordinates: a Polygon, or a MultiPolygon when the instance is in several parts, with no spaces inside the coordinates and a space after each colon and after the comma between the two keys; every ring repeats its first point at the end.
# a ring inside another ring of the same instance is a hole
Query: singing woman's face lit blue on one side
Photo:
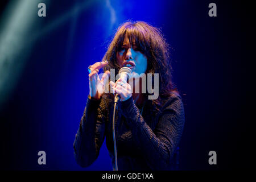
{"type": "Polygon", "coordinates": [[[135,43],[131,44],[125,37],[121,51],[117,52],[117,61],[121,67],[129,67],[133,73],[145,73],[147,70],[147,57],[138,51],[135,43]]]}

